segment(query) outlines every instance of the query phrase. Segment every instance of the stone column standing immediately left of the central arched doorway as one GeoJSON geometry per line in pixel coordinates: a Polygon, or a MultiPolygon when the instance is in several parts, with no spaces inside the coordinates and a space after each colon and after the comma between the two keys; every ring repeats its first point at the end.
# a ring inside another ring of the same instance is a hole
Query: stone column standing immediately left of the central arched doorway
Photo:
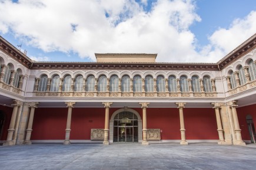
{"type": "Polygon", "coordinates": [[[104,104],[104,107],[105,107],[105,128],[104,128],[104,141],[103,141],[103,144],[104,145],[109,145],[109,141],[108,141],[108,133],[109,133],[109,108],[110,108],[111,104],[113,104],[113,103],[112,102],[104,102],[102,104],[104,104]]]}

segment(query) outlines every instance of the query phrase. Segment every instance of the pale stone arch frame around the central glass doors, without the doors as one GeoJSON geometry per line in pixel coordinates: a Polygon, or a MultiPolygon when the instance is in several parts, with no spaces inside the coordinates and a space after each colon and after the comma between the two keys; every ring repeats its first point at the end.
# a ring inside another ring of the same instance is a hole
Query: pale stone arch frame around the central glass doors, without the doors
{"type": "Polygon", "coordinates": [[[138,142],[142,142],[142,120],[141,120],[141,115],[139,115],[139,113],[135,110],[133,110],[132,108],[120,108],[118,110],[116,110],[110,118],[109,121],[109,143],[113,143],[113,138],[114,138],[114,118],[115,115],[117,115],[118,113],[121,113],[123,111],[129,111],[131,113],[134,113],[135,115],[137,115],[138,117],[138,142]]]}

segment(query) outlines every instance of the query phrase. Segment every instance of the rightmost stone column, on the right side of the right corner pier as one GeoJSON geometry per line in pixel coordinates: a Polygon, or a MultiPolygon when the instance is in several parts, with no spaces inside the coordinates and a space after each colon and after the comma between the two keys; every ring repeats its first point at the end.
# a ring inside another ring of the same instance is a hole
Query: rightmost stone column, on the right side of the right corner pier
{"type": "Polygon", "coordinates": [[[237,117],[237,109],[236,107],[237,105],[237,101],[233,100],[231,101],[231,110],[232,110],[232,116],[234,119],[234,127],[235,127],[235,135],[237,137],[237,141],[235,142],[235,145],[245,145],[245,142],[242,141],[242,136],[241,136],[241,129],[240,129],[240,125],[239,125],[239,121],[238,121],[238,117],[237,117]]]}

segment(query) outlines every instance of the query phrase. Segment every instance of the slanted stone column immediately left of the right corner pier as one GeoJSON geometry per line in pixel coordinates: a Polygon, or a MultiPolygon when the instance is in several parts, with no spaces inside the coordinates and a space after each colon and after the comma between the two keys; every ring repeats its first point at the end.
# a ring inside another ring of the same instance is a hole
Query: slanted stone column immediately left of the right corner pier
{"type": "Polygon", "coordinates": [[[220,104],[218,102],[212,103],[215,109],[216,114],[216,120],[217,120],[217,131],[219,135],[219,141],[218,144],[225,144],[224,135],[223,135],[223,129],[222,129],[222,123],[221,123],[221,116],[220,116],[220,104]]]}

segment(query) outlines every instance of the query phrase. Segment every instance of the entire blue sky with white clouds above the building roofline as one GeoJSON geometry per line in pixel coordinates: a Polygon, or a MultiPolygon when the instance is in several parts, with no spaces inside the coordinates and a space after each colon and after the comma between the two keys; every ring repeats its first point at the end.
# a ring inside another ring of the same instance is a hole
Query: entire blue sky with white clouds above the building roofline
{"type": "Polygon", "coordinates": [[[0,0],[0,35],[36,61],[218,62],[254,33],[255,0],[0,0]]]}

